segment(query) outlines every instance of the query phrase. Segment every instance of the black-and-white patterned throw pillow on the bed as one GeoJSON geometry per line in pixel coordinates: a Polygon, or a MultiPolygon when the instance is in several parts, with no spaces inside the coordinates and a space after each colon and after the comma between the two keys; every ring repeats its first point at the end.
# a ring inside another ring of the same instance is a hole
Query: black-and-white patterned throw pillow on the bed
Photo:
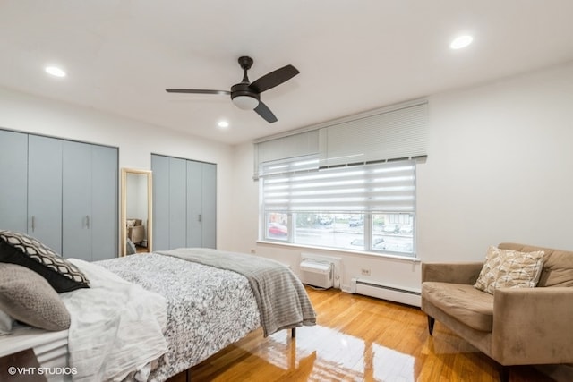
{"type": "Polygon", "coordinates": [[[30,268],[44,276],[58,293],[90,287],[78,267],[24,233],[0,231],[0,262],[30,268]]]}

